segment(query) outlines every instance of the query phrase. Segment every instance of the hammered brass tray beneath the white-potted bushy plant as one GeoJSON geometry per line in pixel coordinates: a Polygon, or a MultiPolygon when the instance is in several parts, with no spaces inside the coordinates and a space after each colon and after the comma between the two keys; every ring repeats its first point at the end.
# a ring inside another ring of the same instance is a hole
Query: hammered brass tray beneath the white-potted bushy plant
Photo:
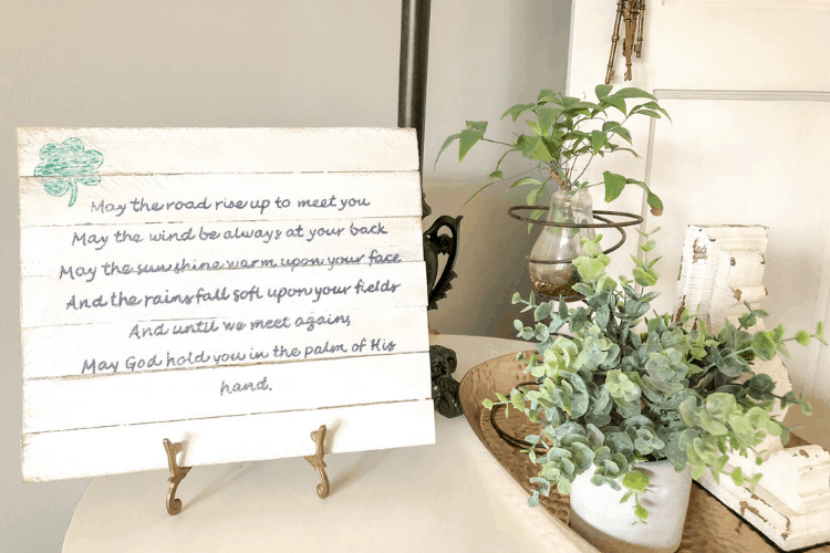
{"type": "MultiPolygon", "coordinates": [[[[516,354],[504,355],[483,363],[473,367],[464,376],[459,396],[464,415],[473,431],[519,486],[530,494],[530,478],[539,472],[538,466],[535,466],[526,453],[508,445],[496,434],[490,422],[490,411],[481,405],[485,398],[495,399],[496,392],[506,394],[517,384],[530,379],[531,377],[522,372],[523,368],[525,364],[516,361],[516,354]]],[[[501,418],[498,424],[504,431],[520,438],[530,434],[528,430],[531,428],[531,422],[525,417],[516,416],[506,419],[501,414],[499,417],[501,418]]],[[[550,497],[541,498],[540,504],[564,524],[570,523],[568,495],[551,491],[550,497]]],[[[780,550],[695,483],[692,487],[683,541],[677,551],[683,553],[714,551],[765,553],[780,550]]],[[[819,545],[801,551],[830,552],[830,545],[819,545]]]]}

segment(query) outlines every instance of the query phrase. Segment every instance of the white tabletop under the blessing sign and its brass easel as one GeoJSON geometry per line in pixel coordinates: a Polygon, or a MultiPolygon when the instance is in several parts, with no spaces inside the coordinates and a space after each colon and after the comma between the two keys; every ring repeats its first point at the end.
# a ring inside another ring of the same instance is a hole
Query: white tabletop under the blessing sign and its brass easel
{"type": "MultiPolygon", "coordinates": [[[[526,342],[435,336],[461,376],[526,342]]],[[[160,445],[159,445],[160,450],[160,445]]],[[[301,458],[194,467],[165,510],[166,471],[98,477],[63,553],[208,551],[595,551],[550,517],[487,451],[464,416],[436,414],[436,444],[325,457],[331,495],[301,458]]]]}

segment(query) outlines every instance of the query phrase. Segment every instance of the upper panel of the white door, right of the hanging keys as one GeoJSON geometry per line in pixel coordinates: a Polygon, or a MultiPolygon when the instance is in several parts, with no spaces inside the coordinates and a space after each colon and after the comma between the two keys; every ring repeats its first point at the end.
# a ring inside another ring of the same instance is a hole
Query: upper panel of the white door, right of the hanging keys
{"type": "Polygon", "coordinates": [[[830,9],[667,3],[660,23],[655,88],[830,90],[830,9]]]}

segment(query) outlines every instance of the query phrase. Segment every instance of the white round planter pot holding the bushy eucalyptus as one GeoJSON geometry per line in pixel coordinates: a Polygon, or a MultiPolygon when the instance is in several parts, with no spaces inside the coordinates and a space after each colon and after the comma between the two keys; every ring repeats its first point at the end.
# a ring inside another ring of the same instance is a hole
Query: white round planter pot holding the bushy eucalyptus
{"type": "Polygon", "coordinates": [[[633,524],[634,498],[609,486],[591,483],[592,470],[578,476],[571,486],[571,528],[603,552],[674,553],[681,545],[686,521],[692,472],[676,472],[668,461],[636,466],[649,474],[649,489],[640,503],[649,510],[647,524],[633,524]]]}

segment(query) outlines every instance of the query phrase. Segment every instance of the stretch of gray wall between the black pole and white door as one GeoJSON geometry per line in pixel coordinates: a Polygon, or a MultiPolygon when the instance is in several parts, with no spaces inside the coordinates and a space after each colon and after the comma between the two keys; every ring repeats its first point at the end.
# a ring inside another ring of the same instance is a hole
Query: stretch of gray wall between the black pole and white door
{"type": "MultiPolygon", "coordinates": [[[[488,121],[485,136],[512,142],[501,114],[535,101],[541,88],[564,90],[570,12],[570,2],[537,0],[433,4],[424,189],[435,216],[464,216],[458,278],[429,312],[429,325],[438,332],[516,335],[512,321],[519,310],[510,298],[531,290],[527,257],[540,231],[528,234],[525,223],[507,215],[510,206],[525,204],[525,196],[508,192],[510,182],[504,182],[464,206],[495,168],[502,153],[495,145],[474,148],[460,165],[457,146],[455,152],[450,147],[433,166],[444,139],[464,128],[465,121],[488,121]],[[448,27],[459,20],[477,32],[448,27]]],[[[505,175],[525,169],[516,160],[502,164],[505,175]]]]}

